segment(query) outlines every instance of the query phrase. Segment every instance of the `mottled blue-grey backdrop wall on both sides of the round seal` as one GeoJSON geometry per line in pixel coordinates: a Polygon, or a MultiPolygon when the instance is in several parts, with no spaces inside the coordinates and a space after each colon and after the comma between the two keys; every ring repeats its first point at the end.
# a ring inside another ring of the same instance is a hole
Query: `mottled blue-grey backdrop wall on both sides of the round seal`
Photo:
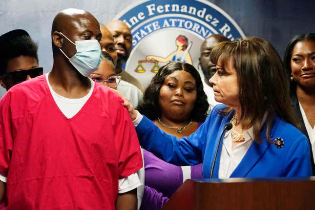
{"type": "MultiPolygon", "coordinates": [[[[209,0],[226,11],[246,36],[262,37],[282,56],[296,34],[315,32],[315,0],[209,0]]],[[[101,23],[112,20],[137,0],[0,0],[0,34],[22,28],[39,44],[44,72],[52,67],[51,23],[66,8],[92,13],[101,23]]],[[[171,2],[171,1],[170,1],[171,2]]],[[[0,97],[5,90],[0,87],[0,97]]]]}

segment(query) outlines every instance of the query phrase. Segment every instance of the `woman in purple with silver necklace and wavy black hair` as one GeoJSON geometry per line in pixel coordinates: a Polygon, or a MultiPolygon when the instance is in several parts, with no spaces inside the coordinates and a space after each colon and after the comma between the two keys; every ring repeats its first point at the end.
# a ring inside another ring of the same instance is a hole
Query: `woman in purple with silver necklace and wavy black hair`
{"type": "MultiPolygon", "coordinates": [[[[162,66],[152,78],[137,109],[161,130],[181,138],[189,136],[204,122],[208,107],[197,70],[188,63],[172,62],[162,66]]],[[[178,167],[147,150],[144,150],[144,162],[141,210],[162,209],[186,179],[202,178],[202,164],[178,167]]]]}

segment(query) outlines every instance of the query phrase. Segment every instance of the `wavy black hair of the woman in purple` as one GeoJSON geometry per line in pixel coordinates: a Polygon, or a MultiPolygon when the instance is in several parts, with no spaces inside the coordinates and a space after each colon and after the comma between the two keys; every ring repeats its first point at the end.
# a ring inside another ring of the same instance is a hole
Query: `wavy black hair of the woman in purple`
{"type": "Polygon", "coordinates": [[[196,122],[204,122],[207,117],[209,104],[207,96],[203,90],[203,84],[198,71],[189,63],[171,62],[162,66],[158,73],[152,78],[151,83],[147,87],[142,101],[139,103],[137,110],[146,115],[150,120],[156,120],[161,116],[161,108],[159,105],[159,95],[161,86],[164,84],[166,77],[174,71],[184,70],[191,74],[196,80],[197,98],[194,108],[190,114],[191,120],[196,122]]]}

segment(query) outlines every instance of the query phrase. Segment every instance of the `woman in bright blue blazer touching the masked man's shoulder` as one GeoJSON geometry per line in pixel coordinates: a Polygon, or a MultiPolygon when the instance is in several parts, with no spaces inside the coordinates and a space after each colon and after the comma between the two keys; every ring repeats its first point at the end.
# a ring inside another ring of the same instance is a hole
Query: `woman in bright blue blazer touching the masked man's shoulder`
{"type": "Polygon", "coordinates": [[[213,178],[311,176],[309,143],[293,126],[289,84],[274,47],[260,38],[238,39],[219,43],[210,57],[217,65],[210,79],[215,100],[225,105],[215,106],[195,133],[178,140],[126,101],[140,144],[175,165],[203,162],[205,178],[217,147],[213,178]],[[220,141],[229,122],[232,128],[220,141]]]}

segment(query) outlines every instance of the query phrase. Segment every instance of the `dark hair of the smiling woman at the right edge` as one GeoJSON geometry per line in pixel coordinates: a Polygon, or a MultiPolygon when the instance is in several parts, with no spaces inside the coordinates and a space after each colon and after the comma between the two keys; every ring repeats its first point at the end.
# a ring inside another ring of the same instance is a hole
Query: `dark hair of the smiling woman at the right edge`
{"type": "MultiPolygon", "coordinates": [[[[283,64],[284,68],[286,69],[287,72],[287,77],[288,81],[290,81],[291,77],[291,57],[292,57],[292,51],[297,42],[302,42],[302,41],[312,41],[315,42],[315,33],[307,33],[307,34],[299,34],[296,35],[292,40],[288,43],[286,51],[284,53],[284,58],[283,58],[283,64]]],[[[295,81],[290,81],[290,93],[294,94],[296,90],[296,83],[295,81]]]]}

